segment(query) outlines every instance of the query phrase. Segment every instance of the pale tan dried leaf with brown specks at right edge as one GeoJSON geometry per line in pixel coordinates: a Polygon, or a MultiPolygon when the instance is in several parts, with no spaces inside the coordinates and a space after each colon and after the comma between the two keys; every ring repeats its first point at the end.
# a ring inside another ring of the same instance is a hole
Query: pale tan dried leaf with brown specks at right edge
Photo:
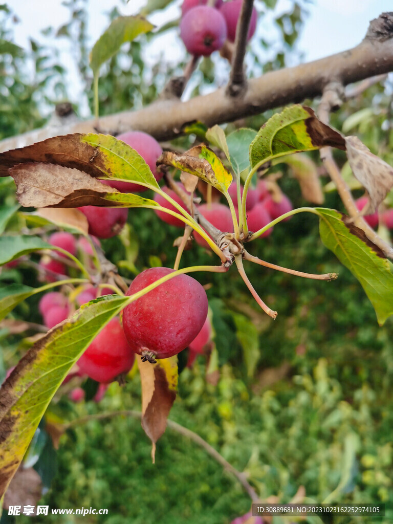
{"type": "Polygon", "coordinates": [[[356,136],[347,136],[345,143],[354,177],[363,184],[369,196],[362,214],[374,213],[393,187],[393,167],[373,155],[356,136]]]}

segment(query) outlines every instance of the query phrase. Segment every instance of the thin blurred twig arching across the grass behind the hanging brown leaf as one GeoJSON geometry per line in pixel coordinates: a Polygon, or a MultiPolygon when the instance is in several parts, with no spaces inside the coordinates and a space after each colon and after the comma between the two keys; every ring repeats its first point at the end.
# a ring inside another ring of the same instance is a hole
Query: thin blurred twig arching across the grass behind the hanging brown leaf
{"type": "MultiPolygon", "coordinates": [[[[95,413],[63,424],[62,429],[65,431],[69,428],[74,428],[75,426],[84,424],[85,422],[89,422],[90,420],[103,420],[117,416],[134,417],[137,419],[141,419],[142,413],[140,411],[134,410],[113,411],[111,413],[95,413]]],[[[253,502],[258,502],[260,500],[257,493],[255,492],[255,489],[247,482],[246,475],[236,470],[236,468],[232,466],[232,464],[226,461],[224,457],[220,455],[220,453],[216,451],[214,447],[208,444],[208,442],[203,440],[201,436],[187,428],[184,428],[184,426],[178,424],[177,422],[173,422],[172,420],[167,420],[167,426],[171,430],[176,431],[177,433],[180,433],[183,436],[187,436],[190,440],[201,446],[206,451],[206,453],[213,457],[213,459],[224,468],[224,470],[227,470],[230,473],[232,473],[232,475],[234,475],[239,481],[239,483],[241,483],[241,485],[244,487],[244,489],[248,493],[249,497],[253,500],[253,502]]]]}

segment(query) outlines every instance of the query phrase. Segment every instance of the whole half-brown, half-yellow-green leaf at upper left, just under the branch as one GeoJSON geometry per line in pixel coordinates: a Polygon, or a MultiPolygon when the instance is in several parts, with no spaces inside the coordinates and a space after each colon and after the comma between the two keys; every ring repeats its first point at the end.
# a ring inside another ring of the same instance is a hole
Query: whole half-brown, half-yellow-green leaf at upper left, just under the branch
{"type": "MultiPolygon", "coordinates": [[[[94,178],[116,178],[158,188],[145,160],[121,140],[95,133],[62,135],[0,154],[0,176],[19,163],[45,162],[74,168],[94,178]]],[[[108,187],[106,191],[111,192],[108,187]]]]}

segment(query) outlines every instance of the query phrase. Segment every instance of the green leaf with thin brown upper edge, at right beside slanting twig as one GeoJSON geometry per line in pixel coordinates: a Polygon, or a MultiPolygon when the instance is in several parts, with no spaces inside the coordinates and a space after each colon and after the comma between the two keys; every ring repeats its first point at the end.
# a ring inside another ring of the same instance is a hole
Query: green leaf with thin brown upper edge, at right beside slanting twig
{"type": "Polygon", "coordinates": [[[320,213],[323,244],[361,283],[375,309],[379,325],[393,314],[392,264],[364,232],[348,217],[332,209],[315,208],[320,213]]]}

